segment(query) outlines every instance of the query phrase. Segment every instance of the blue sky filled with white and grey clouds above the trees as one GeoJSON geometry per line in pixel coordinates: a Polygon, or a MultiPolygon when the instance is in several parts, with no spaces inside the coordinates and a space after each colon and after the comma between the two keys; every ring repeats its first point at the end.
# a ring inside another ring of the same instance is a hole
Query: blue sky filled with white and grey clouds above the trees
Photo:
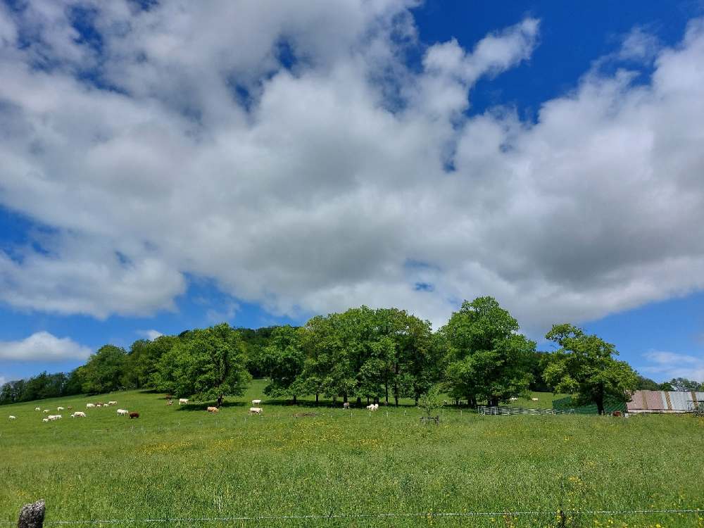
{"type": "Polygon", "coordinates": [[[704,10],[490,4],[0,0],[0,379],[479,295],[704,379],[704,10]]]}

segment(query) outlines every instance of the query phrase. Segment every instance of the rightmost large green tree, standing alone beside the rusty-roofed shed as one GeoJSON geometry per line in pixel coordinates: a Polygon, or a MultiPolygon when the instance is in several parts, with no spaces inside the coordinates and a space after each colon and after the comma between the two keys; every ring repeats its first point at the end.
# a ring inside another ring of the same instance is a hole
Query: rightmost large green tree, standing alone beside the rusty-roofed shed
{"type": "Polygon", "coordinates": [[[604,413],[607,397],[629,401],[638,375],[618,355],[615,346],[573,325],[554,325],[546,339],[560,346],[549,356],[544,377],[553,391],[574,394],[577,403],[595,403],[604,413]]]}

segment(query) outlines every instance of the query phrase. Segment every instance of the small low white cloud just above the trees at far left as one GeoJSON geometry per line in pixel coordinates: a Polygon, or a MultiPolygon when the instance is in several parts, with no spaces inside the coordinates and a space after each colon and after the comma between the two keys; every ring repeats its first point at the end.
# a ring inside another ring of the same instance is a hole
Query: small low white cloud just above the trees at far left
{"type": "Polygon", "coordinates": [[[20,341],[0,341],[0,359],[15,361],[84,360],[92,353],[68,337],[36,332],[20,341]]]}

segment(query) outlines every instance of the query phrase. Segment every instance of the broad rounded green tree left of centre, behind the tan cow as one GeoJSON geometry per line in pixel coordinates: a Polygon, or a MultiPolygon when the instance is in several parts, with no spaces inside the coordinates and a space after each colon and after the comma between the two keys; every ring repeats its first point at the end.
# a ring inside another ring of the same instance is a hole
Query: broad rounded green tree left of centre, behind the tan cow
{"type": "Polygon", "coordinates": [[[239,334],[222,323],[196,329],[175,342],[162,356],[155,375],[158,389],[194,400],[241,396],[251,381],[239,334]]]}

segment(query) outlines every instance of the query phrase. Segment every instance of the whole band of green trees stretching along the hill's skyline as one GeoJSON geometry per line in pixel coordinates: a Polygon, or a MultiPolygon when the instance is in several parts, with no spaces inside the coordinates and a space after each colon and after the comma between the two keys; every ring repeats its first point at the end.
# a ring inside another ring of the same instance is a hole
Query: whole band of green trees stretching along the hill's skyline
{"type": "Polygon", "coordinates": [[[673,379],[656,384],[617,360],[615,346],[574,325],[546,334],[555,350],[536,350],[507,310],[491,297],[465,301],[436,332],[398,308],[351,308],[301,327],[232,328],[227,323],[129,350],[106,344],[72,372],[42,374],[0,387],[0,404],[120,389],[154,389],[222,405],[244,394],[252,377],[269,379],[271,398],[301,396],[398,405],[431,389],[453,400],[496,406],[529,390],[568,393],[575,404],[627,401],[636,389],[703,389],[673,379]]]}

